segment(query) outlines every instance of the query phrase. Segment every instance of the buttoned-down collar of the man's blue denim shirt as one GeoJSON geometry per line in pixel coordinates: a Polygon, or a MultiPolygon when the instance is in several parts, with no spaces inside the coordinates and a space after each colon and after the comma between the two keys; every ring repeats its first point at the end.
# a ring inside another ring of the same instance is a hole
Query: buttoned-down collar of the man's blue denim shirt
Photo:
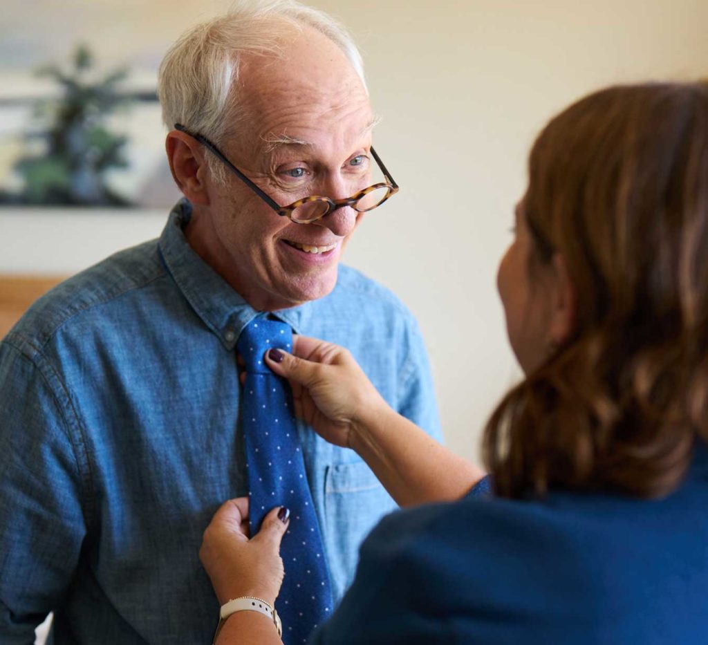
{"type": "MultiPolygon", "coordinates": [[[[189,246],[183,227],[192,216],[192,205],[181,199],[170,213],[160,236],[162,259],[178,289],[204,324],[219,337],[227,350],[232,350],[241,331],[251,321],[269,315],[259,312],[244,300],[215,270],[189,246]]],[[[276,318],[289,324],[295,333],[307,317],[309,302],[273,312],[276,318]]]]}

